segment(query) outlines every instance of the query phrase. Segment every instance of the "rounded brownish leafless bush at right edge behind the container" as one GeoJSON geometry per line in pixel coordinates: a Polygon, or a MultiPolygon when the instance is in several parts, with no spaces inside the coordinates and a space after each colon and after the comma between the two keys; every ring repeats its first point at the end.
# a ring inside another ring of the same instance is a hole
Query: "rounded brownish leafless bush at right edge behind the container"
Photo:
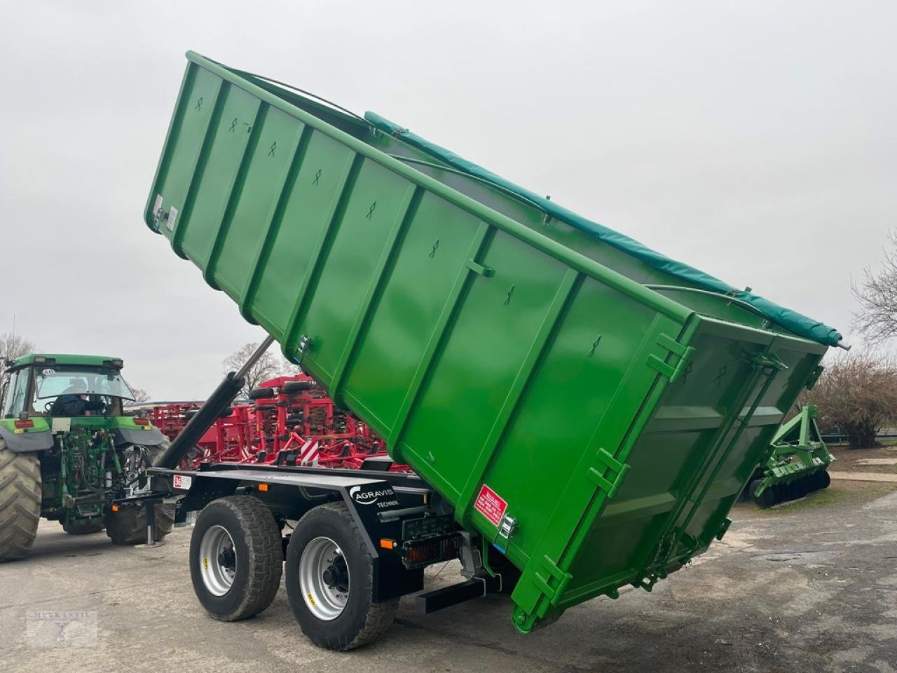
{"type": "Polygon", "coordinates": [[[801,403],[819,407],[820,426],[840,428],[851,449],[873,447],[885,424],[897,417],[897,363],[889,355],[842,354],[801,403]]]}

